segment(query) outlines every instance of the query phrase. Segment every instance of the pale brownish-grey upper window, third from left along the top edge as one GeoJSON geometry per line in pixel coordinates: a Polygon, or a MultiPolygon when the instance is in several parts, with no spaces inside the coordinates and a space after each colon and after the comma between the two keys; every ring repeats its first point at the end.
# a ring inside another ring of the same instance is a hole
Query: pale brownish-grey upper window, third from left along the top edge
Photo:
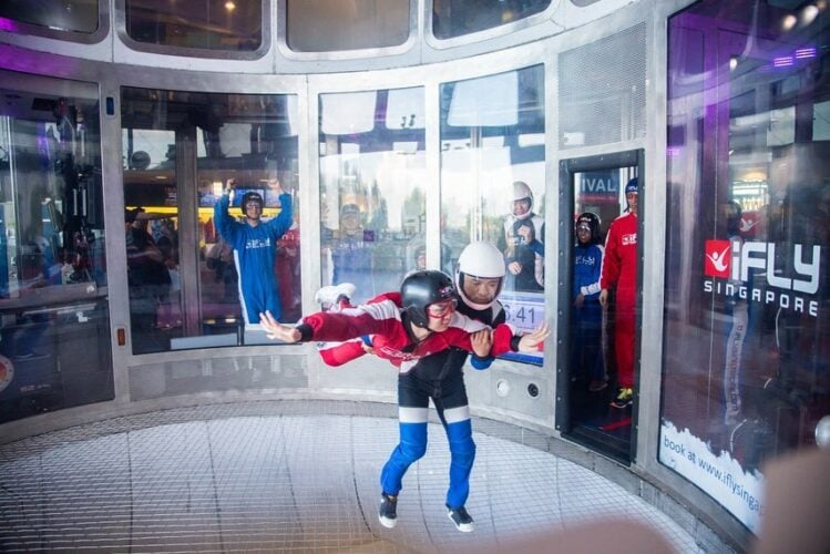
{"type": "Polygon", "coordinates": [[[295,52],[403,44],[411,0],[286,0],[286,41],[295,52]]]}

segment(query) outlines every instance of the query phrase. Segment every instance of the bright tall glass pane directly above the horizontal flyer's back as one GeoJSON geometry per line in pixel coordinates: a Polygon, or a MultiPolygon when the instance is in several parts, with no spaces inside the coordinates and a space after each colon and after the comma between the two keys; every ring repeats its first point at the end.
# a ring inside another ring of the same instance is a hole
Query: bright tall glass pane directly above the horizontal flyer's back
{"type": "Polygon", "coordinates": [[[422,88],[320,95],[322,284],[355,284],[356,302],[423,261],[423,102],[422,88]]]}

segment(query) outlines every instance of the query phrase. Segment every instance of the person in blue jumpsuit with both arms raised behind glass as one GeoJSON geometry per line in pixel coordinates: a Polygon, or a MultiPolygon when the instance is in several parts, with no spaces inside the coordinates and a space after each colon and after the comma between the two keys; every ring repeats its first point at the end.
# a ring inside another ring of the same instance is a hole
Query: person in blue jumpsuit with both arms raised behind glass
{"type": "Polygon", "coordinates": [[[274,274],[274,260],[277,240],[293,223],[291,196],[278,181],[270,181],[269,186],[279,193],[281,209],[277,217],[264,222],[263,196],[256,192],[246,193],[242,199],[245,222],[240,223],[228,214],[234,186],[235,179],[229,179],[227,188],[216,202],[214,225],[222,238],[234,248],[243,318],[246,324],[259,324],[259,314],[270,311],[277,320],[281,320],[283,306],[279,301],[279,284],[274,274]]]}

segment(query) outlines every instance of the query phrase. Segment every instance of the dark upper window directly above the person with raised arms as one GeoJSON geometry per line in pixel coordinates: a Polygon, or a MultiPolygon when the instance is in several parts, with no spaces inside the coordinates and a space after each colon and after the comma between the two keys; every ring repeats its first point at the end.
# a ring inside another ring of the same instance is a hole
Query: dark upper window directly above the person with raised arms
{"type": "Polygon", "coordinates": [[[163,47],[254,52],[263,44],[263,3],[125,0],[131,39],[163,47]]]}

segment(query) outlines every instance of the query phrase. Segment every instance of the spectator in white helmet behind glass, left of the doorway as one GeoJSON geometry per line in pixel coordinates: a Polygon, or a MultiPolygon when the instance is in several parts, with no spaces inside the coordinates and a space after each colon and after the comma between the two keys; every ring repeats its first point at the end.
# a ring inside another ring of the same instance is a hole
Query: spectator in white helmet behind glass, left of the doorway
{"type": "MultiPolygon", "coordinates": [[[[514,290],[537,291],[544,286],[544,218],[533,213],[527,183],[513,183],[512,213],[504,220],[504,259],[514,290]]],[[[510,283],[508,288],[510,289],[510,283]]]]}

